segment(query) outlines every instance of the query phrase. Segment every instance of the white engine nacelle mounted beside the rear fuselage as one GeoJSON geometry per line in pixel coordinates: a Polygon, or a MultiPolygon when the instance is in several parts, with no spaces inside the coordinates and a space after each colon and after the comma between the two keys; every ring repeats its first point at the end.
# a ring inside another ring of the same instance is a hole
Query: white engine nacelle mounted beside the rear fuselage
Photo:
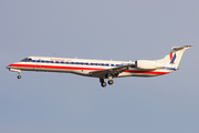
{"type": "Polygon", "coordinates": [[[156,70],[163,68],[163,64],[149,60],[137,60],[135,63],[137,69],[143,69],[143,70],[156,70]]]}

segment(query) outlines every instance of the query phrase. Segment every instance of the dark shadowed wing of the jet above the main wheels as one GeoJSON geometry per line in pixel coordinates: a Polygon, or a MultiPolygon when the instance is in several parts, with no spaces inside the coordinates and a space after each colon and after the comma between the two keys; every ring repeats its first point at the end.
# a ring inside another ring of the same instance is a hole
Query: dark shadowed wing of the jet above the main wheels
{"type": "Polygon", "coordinates": [[[101,78],[101,79],[108,78],[109,75],[112,78],[116,78],[119,73],[128,70],[130,66],[134,66],[134,65],[135,64],[127,64],[127,65],[123,65],[123,66],[116,66],[116,68],[113,68],[113,69],[93,71],[93,72],[90,72],[88,74],[91,76],[96,76],[96,78],[101,78]]]}

